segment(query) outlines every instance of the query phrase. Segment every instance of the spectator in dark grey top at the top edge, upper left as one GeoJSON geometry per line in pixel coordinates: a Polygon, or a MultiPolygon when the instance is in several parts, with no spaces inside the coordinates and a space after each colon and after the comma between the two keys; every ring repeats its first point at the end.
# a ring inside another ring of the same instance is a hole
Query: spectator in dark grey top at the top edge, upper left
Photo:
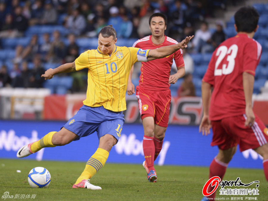
{"type": "Polygon", "coordinates": [[[57,10],[54,8],[51,0],[46,0],[40,24],[57,24],[57,16],[57,10]]]}

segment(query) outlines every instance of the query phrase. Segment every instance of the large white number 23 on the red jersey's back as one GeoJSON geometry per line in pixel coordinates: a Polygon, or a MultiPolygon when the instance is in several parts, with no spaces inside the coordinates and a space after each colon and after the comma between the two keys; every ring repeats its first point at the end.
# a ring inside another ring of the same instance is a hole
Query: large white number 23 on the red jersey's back
{"type": "Polygon", "coordinates": [[[226,46],[220,46],[216,52],[216,56],[219,56],[216,60],[215,64],[215,70],[214,75],[215,76],[221,76],[228,75],[233,72],[234,65],[235,65],[235,58],[237,55],[238,46],[236,44],[233,44],[228,49],[226,46]],[[218,69],[219,64],[222,62],[222,60],[227,56],[226,60],[228,61],[228,64],[222,64],[222,69],[218,69]]]}

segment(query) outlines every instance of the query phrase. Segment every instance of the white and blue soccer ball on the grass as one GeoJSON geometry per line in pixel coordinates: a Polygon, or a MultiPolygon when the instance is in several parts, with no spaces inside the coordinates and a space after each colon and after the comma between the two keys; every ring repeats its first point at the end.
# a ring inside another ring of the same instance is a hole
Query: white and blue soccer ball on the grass
{"type": "Polygon", "coordinates": [[[28,182],[32,188],[48,187],[50,179],[49,171],[43,167],[35,167],[28,174],[28,182]]]}

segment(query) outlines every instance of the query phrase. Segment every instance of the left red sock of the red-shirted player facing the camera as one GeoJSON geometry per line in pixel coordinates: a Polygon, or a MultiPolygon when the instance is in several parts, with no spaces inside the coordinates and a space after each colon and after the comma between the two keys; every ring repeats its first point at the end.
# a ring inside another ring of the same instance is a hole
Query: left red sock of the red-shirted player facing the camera
{"type": "Polygon", "coordinates": [[[154,155],[155,155],[155,144],[153,141],[153,137],[149,137],[144,135],[143,137],[143,153],[146,164],[148,166],[149,171],[154,170],[154,155]]]}

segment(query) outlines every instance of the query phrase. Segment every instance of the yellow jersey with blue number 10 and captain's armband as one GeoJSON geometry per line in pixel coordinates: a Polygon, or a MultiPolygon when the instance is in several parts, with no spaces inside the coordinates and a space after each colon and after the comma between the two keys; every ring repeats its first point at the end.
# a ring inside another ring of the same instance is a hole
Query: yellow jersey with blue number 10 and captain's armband
{"type": "Polygon", "coordinates": [[[75,60],[77,71],[88,68],[87,98],[84,105],[107,110],[126,110],[127,81],[137,61],[147,61],[149,50],[115,46],[111,55],[98,49],[88,50],[75,60]]]}

